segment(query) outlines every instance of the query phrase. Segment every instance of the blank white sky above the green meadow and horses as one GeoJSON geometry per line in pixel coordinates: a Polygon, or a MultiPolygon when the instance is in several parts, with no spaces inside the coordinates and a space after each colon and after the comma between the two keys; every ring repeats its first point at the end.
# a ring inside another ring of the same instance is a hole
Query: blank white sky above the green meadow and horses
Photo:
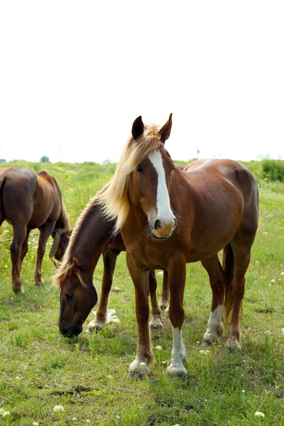
{"type": "Polygon", "coordinates": [[[0,0],[0,158],[117,161],[170,112],[175,160],[284,158],[283,23],[283,0],[0,0]]]}

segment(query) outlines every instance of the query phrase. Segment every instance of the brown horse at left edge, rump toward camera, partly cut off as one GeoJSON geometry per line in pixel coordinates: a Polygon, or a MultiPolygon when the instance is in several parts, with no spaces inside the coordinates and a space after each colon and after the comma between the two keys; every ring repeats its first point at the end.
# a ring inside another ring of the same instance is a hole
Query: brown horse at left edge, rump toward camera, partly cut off
{"type": "Polygon", "coordinates": [[[46,242],[53,236],[51,252],[60,260],[69,242],[71,228],[61,192],[53,176],[43,170],[33,173],[26,168],[0,170],[0,226],[6,219],[13,226],[10,246],[14,293],[24,293],[21,266],[28,251],[31,229],[38,228],[40,237],[35,263],[36,284],[42,284],[41,264],[46,242]]]}

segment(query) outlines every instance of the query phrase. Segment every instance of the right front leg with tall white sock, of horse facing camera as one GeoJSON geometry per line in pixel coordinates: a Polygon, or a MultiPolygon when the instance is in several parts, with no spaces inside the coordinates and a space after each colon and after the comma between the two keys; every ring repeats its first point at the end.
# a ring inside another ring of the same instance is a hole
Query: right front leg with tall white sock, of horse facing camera
{"type": "Polygon", "coordinates": [[[186,263],[184,258],[176,258],[168,267],[170,286],[169,318],[173,327],[173,350],[171,363],[167,368],[169,376],[185,376],[187,354],[182,341],[182,324],[185,320],[183,294],[185,291],[186,263]]]}

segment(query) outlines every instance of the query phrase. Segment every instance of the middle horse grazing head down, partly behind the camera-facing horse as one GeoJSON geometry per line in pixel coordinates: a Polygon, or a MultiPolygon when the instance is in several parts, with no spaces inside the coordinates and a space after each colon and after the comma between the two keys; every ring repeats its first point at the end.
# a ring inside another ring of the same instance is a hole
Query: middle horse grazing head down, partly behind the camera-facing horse
{"type": "MultiPolygon", "coordinates": [[[[116,258],[121,251],[126,250],[120,234],[111,238],[114,221],[104,219],[96,200],[97,196],[93,197],[78,219],[72,231],[70,244],[53,280],[53,285],[60,288],[59,329],[63,336],[80,334],[84,320],[97,303],[97,291],[92,277],[101,254],[104,262],[102,293],[96,317],[89,324],[87,331],[92,333],[92,329],[104,327],[116,258]]],[[[153,318],[150,325],[151,329],[163,329],[161,311],[155,295],[156,288],[155,273],[151,271],[149,290],[153,318]]],[[[164,305],[165,302],[166,300],[164,305]]]]}

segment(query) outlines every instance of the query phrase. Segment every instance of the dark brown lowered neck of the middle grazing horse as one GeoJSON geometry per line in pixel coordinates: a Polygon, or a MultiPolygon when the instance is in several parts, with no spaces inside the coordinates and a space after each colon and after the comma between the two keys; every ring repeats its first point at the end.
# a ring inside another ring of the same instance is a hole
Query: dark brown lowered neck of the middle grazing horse
{"type": "Polygon", "coordinates": [[[72,241],[72,258],[77,258],[80,270],[84,273],[93,273],[97,266],[99,256],[107,241],[111,239],[113,221],[107,221],[97,206],[87,212],[72,241]]]}

